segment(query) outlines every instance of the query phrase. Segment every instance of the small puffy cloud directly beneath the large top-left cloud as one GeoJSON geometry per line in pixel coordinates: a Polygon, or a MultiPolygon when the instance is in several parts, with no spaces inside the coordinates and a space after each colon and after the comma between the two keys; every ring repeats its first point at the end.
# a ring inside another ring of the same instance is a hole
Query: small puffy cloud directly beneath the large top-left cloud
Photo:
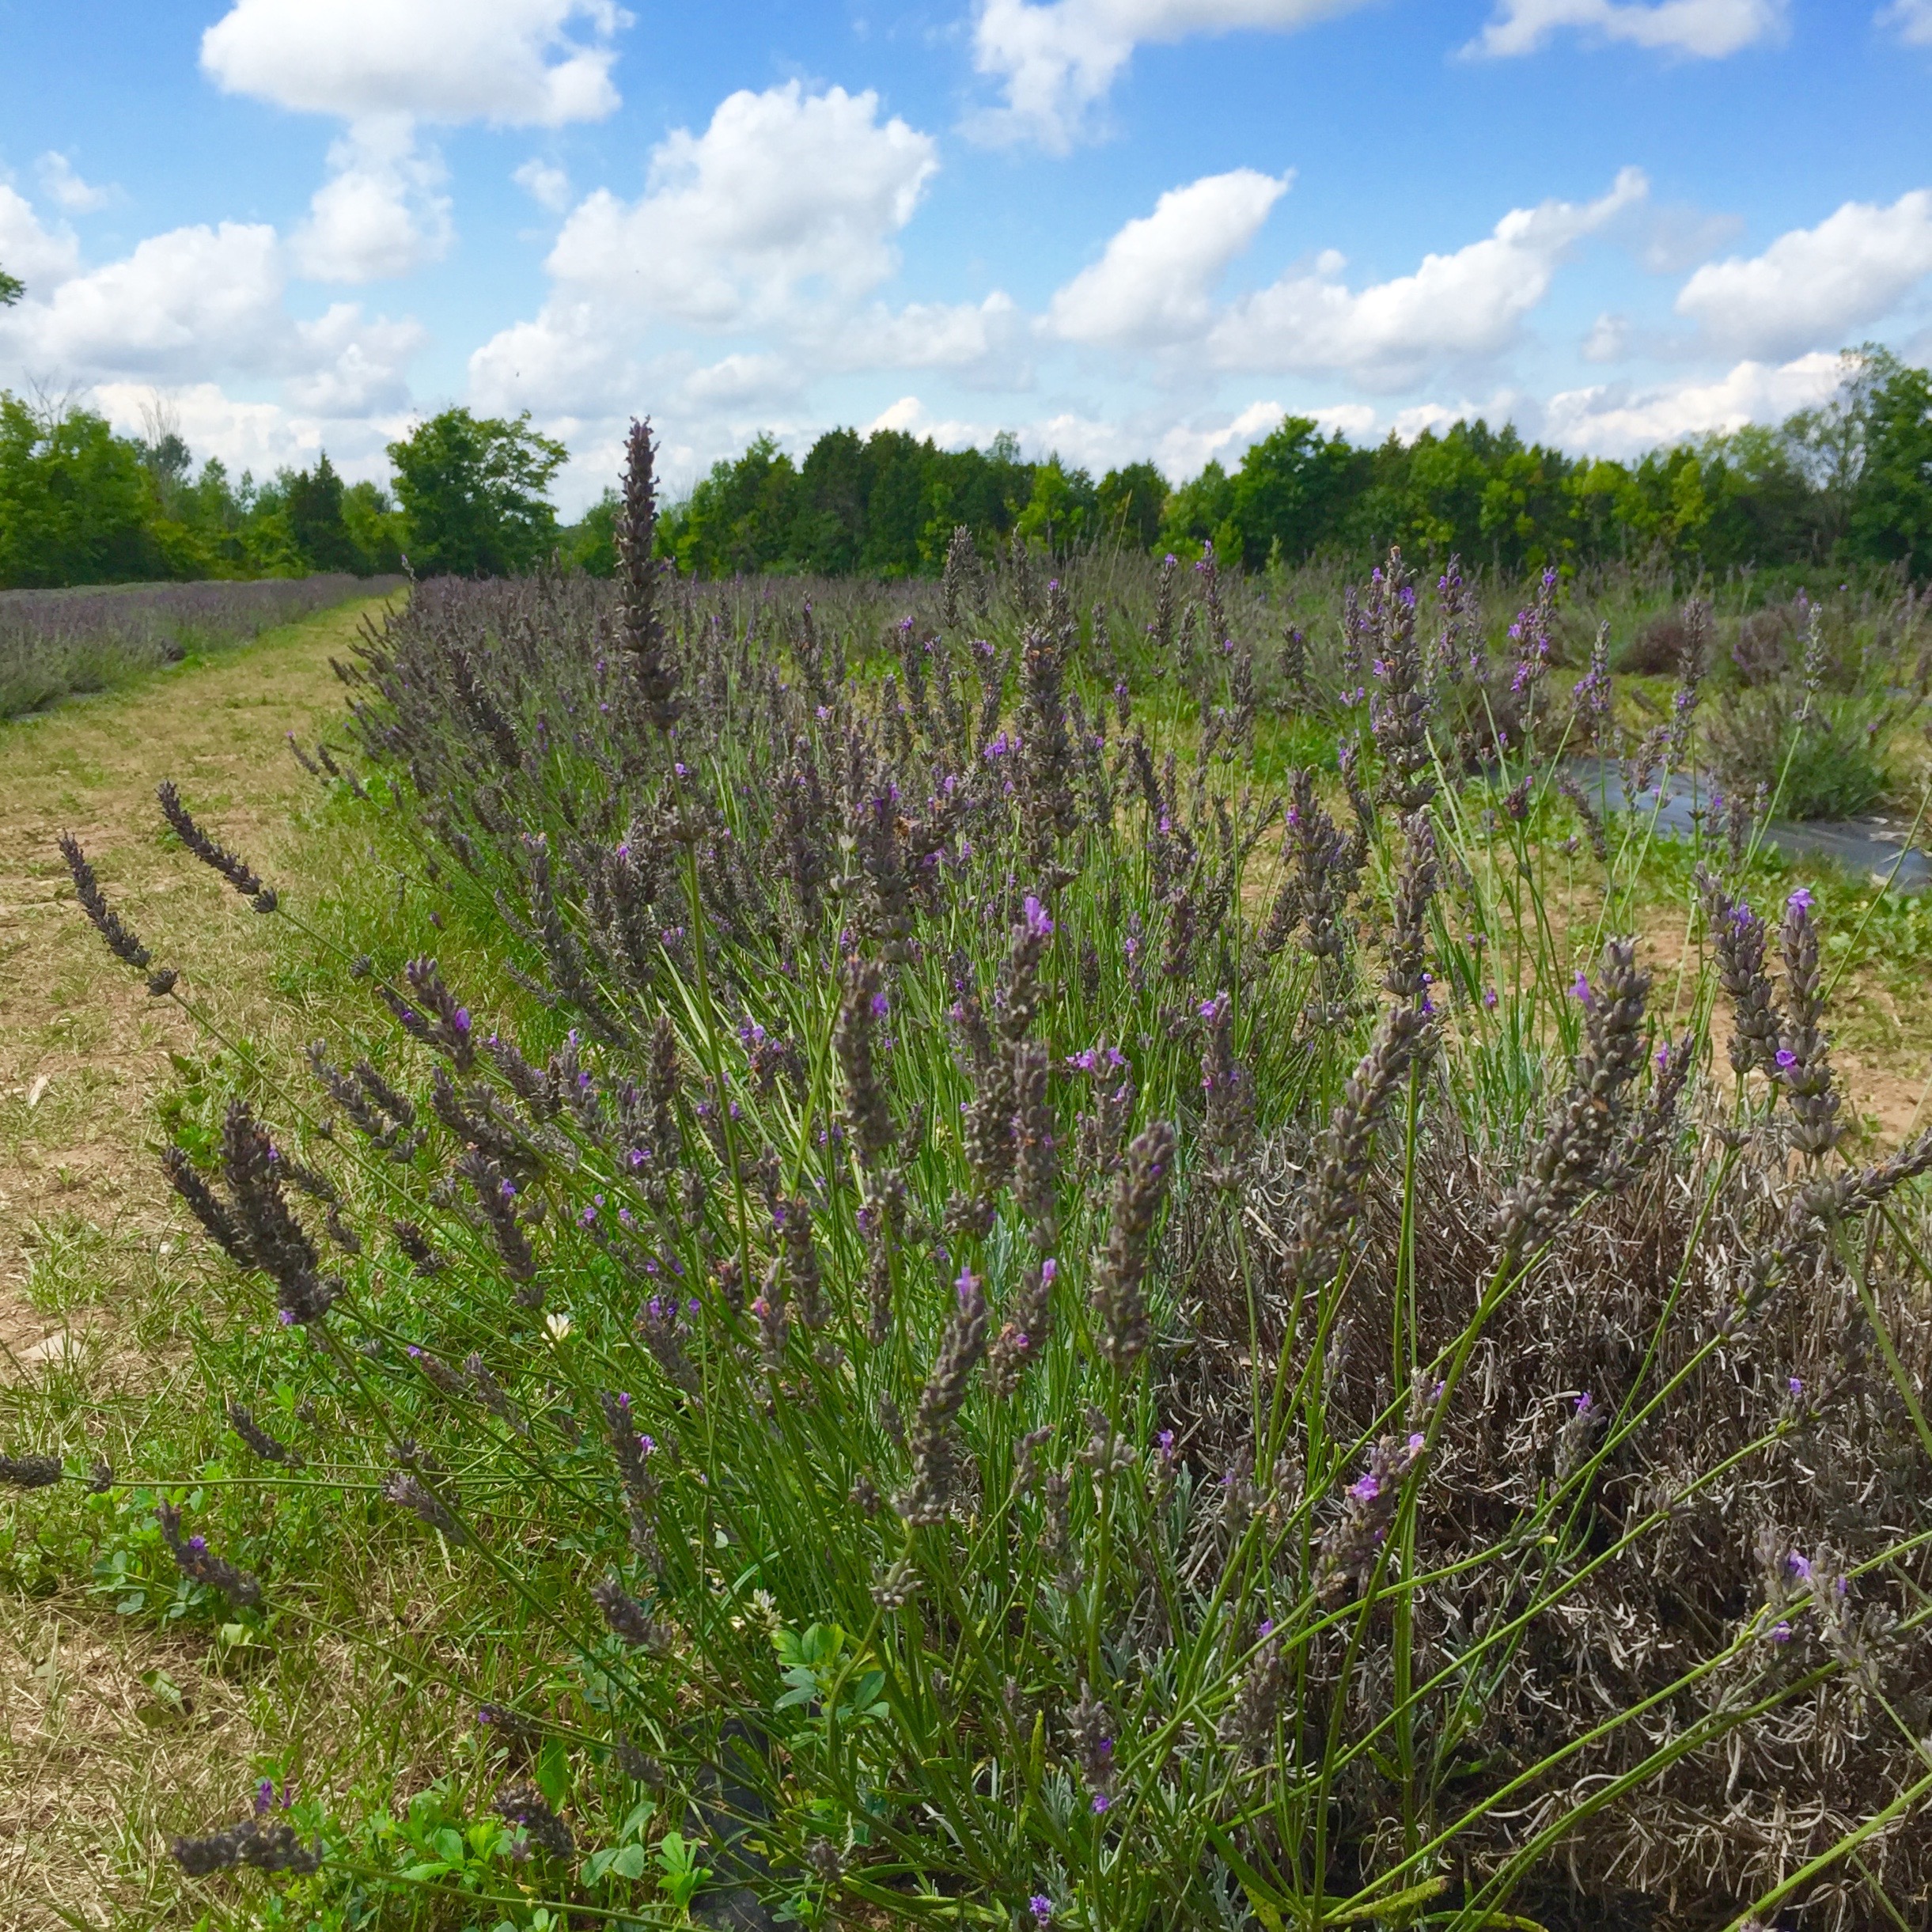
{"type": "Polygon", "coordinates": [[[355,122],[328,149],[328,180],[290,238],[296,269],[315,282],[375,282],[439,261],[450,245],[442,164],[398,116],[355,122]]]}

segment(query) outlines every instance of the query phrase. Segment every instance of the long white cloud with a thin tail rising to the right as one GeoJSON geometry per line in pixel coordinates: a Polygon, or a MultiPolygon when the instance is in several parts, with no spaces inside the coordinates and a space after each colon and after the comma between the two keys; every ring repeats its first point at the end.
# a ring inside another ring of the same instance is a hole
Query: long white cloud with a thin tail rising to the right
{"type": "Polygon", "coordinates": [[[1345,371],[1366,388],[1406,388],[1443,361],[1509,348],[1522,317],[1549,292],[1563,257],[1644,199],[1625,168],[1598,201],[1511,209],[1482,242],[1424,255],[1414,274],[1352,292],[1339,257],[1233,303],[1208,332],[1223,369],[1345,371]]]}

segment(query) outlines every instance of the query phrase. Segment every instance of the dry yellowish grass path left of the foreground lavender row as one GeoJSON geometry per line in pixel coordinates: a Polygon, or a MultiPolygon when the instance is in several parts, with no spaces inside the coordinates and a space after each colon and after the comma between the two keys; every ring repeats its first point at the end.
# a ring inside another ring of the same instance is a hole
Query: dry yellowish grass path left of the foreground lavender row
{"type": "MultiPolygon", "coordinates": [[[[207,1047],[108,958],[54,840],[81,838],[110,902],[218,991],[224,1024],[278,1049],[309,1037],[301,999],[276,989],[274,922],[170,850],[155,782],[172,777],[274,877],[317,796],[286,734],[313,740],[340,719],[328,657],[369,609],[0,724],[0,1449],[44,1447],[15,1435],[52,1414],[70,1463],[87,1447],[122,1461],[182,1374],[195,1279],[155,1161],[155,1101],[170,1053],[207,1047]]],[[[14,1575],[0,1586],[0,1926],[189,1922],[155,1853],[184,1820],[234,1810],[265,1698],[286,1714],[286,1687],[224,1675],[199,1638],[116,1619],[75,1578],[35,1575],[31,1551],[15,1549],[14,1575]]]]}

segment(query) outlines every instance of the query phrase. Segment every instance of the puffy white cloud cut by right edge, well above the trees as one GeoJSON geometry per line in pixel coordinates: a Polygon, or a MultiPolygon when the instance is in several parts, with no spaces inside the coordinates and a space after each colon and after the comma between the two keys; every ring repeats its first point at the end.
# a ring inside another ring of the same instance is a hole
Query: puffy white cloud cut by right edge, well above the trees
{"type": "Polygon", "coordinates": [[[1781,234],[1762,255],[1698,269],[1677,294],[1677,313],[1743,355],[1839,348],[1928,272],[1932,189],[1918,187],[1889,209],[1847,201],[1816,228],[1781,234]]]}

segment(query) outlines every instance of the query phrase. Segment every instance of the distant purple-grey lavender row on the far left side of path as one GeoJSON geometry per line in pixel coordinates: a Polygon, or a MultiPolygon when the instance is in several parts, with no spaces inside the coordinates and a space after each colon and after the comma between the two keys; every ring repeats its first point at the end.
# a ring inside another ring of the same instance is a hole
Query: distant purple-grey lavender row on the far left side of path
{"type": "Polygon", "coordinates": [[[191,649],[245,643],[402,578],[259,578],[247,583],[120,583],[0,591],[0,719],[70,692],[99,692],[191,649]]]}

